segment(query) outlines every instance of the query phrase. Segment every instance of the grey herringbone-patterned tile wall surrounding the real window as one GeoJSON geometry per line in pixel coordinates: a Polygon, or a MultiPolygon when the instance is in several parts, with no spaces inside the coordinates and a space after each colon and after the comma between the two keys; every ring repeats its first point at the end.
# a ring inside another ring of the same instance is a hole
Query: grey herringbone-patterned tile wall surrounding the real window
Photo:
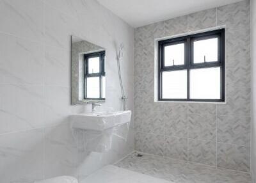
{"type": "Polygon", "coordinates": [[[135,30],[135,148],[221,168],[250,171],[250,1],[135,30]],[[154,102],[154,39],[226,28],[227,104],[154,102]]]}

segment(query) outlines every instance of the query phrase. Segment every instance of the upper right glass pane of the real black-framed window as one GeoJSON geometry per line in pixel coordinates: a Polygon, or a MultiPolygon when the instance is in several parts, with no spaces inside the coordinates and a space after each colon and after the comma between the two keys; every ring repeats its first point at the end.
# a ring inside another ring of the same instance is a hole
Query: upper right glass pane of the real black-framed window
{"type": "Polygon", "coordinates": [[[194,44],[194,63],[218,61],[218,38],[198,40],[194,44]]]}

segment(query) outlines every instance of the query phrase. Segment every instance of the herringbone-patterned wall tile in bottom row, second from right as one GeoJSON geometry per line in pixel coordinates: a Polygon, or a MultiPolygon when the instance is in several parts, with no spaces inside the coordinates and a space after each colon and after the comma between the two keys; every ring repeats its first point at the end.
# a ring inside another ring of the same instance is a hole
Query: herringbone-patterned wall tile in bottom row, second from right
{"type": "Polygon", "coordinates": [[[216,166],[216,142],[189,139],[188,160],[216,166]]]}

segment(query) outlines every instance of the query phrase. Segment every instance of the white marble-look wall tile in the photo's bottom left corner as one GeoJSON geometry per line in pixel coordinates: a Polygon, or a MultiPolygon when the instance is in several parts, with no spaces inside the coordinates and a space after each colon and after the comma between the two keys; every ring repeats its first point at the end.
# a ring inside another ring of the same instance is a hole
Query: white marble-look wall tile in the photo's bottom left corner
{"type": "Polygon", "coordinates": [[[43,178],[43,130],[0,135],[0,182],[33,183],[43,178]]]}

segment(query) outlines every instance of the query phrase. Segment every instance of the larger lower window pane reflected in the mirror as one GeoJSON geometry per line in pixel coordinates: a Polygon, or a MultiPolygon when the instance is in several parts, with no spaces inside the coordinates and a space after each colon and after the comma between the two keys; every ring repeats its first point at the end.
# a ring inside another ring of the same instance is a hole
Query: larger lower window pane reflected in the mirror
{"type": "Polygon", "coordinates": [[[87,77],[87,98],[100,97],[100,77],[87,77]]]}

